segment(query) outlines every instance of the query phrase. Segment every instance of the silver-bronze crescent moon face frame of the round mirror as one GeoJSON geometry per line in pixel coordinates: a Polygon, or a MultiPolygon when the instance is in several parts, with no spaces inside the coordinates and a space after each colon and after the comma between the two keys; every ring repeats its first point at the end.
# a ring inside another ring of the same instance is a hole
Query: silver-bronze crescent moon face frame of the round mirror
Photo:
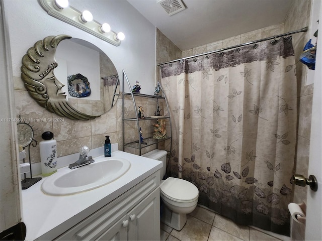
{"type": "Polygon", "coordinates": [[[86,114],[72,107],[61,91],[64,85],[53,73],[58,66],[55,58],[57,46],[70,38],[69,35],[57,35],[37,41],[22,58],[21,78],[30,96],[40,106],[59,116],[88,121],[101,115],[86,114]]]}

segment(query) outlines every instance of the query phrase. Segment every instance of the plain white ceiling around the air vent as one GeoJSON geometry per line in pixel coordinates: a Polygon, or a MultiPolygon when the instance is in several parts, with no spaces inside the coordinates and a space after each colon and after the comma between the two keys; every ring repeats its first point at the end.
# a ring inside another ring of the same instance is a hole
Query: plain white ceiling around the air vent
{"type": "Polygon", "coordinates": [[[285,21],[293,0],[183,0],[169,16],[157,0],[127,0],[181,50],[285,21]]]}

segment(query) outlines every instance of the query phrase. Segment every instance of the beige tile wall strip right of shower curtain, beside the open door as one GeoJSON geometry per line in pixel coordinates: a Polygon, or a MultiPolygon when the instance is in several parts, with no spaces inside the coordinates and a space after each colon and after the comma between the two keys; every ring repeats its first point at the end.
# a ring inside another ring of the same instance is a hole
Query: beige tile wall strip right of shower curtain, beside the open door
{"type": "MultiPolygon", "coordinates": [[[[311,1],[294,0],[292,8],[285,21],[285,31],[293,31],[310,24],[311,1]]],[[[299,59],[306,42],[311,38],[308,33],[293,36],[295,59],[299,59]]],[[[296,63],[297,78],[297,108],[298,108],[298,133],[297,151],[294,173],[308,176],[308,159],[310,146],[311,113],[313,84],[306,85],[307,67],[301,62],[296,63]]],[[[294,186],[294,202],[306,201],[307,187],[294,186]]],[[[292,240],[305,240],[305,225],[292,223],[292,240]]]]}

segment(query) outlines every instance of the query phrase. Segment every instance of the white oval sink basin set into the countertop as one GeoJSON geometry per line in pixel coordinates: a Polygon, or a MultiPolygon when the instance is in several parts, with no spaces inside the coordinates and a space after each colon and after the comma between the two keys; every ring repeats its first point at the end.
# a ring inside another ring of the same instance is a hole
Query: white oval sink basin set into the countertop
{"type": "Polygon", "coordinates": [[[64,167],[45,178],[41,190],[45,194],[62,196],[92,190],[124,175],[131,164],[128,160],[114,157],[94,158],[86,166],[69,169],[64,167]]]}

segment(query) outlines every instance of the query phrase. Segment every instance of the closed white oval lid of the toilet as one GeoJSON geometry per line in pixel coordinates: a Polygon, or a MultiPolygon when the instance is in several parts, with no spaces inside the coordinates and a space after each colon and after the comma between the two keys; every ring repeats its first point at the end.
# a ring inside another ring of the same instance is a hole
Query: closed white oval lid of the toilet
{"type": "Polygon", "coordinates": [[[160,192],[174,201],[191,201],[198,198],[198,188],[191,182],[169,177],[160,185],[160,192]]]}

